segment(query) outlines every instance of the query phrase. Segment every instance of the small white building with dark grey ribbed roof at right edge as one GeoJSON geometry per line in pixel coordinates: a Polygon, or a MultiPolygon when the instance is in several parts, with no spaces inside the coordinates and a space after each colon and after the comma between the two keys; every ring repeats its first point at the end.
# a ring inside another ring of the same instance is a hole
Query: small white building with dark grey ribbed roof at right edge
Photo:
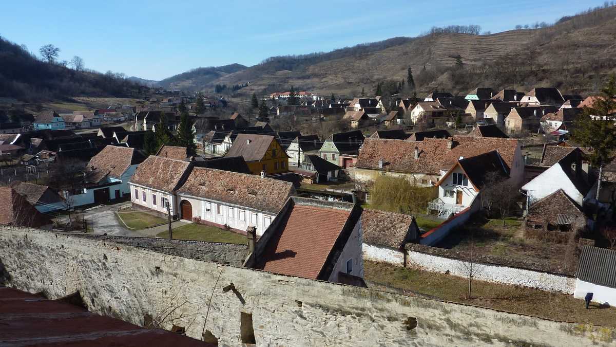
{"type": "Polygon", "coordinates": [[[616,303],[616,251],[584,246],[575,279],[573,298],[584,299],[593,293],[592,301],[614,306],[616,303]]]}

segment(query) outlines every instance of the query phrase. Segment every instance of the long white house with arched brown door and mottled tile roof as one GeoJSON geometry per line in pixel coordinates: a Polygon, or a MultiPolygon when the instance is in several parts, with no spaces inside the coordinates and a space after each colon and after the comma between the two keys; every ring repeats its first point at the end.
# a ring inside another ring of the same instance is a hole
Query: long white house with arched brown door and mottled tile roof
{"type": "Polygon", "coordinates": [[[260,236],[294,191],[274,178],[195,167],[176,192],[179,218],[260,236]]]}

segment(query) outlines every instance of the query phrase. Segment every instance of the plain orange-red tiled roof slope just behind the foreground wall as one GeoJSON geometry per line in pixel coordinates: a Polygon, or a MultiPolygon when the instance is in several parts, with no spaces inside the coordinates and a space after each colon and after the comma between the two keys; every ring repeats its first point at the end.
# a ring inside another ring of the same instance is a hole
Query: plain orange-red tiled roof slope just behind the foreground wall
{"type": "MultiPolygon", "coordinates": [[[[334,244],[341,235],[351,208],[337,209],[293,204],[280,218],[280,228],[267,229],[272,236],[259,257],[257,269],[276,274],[319,278],[334,244]]],[[[265,240],[265,235],[261,240],[265,240]]],[[[326,280],[327,278],[325,278],[326,280]]]]}

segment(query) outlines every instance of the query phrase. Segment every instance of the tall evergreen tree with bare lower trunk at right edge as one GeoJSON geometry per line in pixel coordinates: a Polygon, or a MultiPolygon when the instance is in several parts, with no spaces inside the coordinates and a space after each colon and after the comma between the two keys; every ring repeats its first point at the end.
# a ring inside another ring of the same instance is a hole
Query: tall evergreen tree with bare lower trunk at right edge
{"type": "Polygon", "coordinates": [[[614,159],[616,151],[616,75],[601,89],[601,96],[595,98],[591,107],[584,107],[584,112],[575,121],[573,140],[580,146],[591,147],[588,154],[591,165],[599,168],[597,193],[599,199],[603,168],[614,159]],[[591,116],[594,116],[594,120],[591,116]]]}

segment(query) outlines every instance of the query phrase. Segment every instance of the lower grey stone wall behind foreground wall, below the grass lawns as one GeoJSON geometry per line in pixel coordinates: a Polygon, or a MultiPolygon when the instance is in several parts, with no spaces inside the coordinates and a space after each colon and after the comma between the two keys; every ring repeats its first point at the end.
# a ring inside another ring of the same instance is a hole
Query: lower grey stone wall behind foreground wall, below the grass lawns
{"type": "MultiPolygon", "coordinates": [[[[129,236],[71,234],[91,240],[121,243],[122,245],[150,249],[160,253],[171,254],[204,261],[215,261],[221,264],[241,266],[248,256],[248,239],[246,245],[233,243],[205,242],[193,240],[169,240],[168,238],[148,238],[129,236]]],[[[100,245],[100,243],[99,243],[100,245]]],[[[103,243],[104,245],[104,243],[103,243]]]]}

